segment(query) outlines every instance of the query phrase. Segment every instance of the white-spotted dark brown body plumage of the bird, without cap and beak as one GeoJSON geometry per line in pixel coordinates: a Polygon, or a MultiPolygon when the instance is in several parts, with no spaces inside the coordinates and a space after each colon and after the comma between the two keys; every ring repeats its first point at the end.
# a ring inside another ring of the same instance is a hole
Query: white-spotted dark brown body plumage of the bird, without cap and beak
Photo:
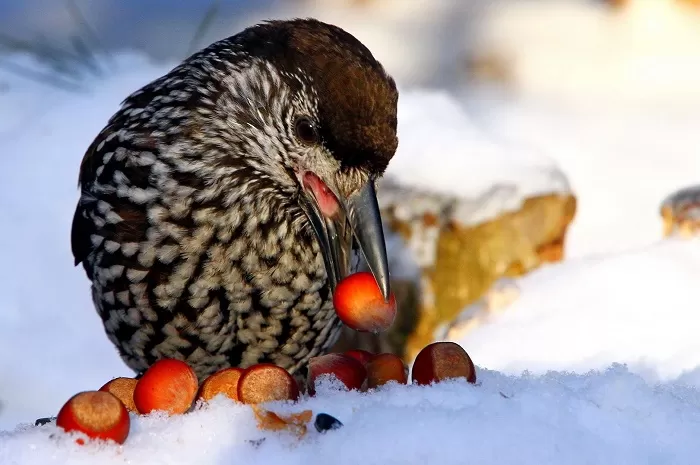
{"type": "MultiPolygon", "coordinates": [[[[132,93],[83,160],[73,252],[137,372],[163,357],[200,378],[260,361],[295,372],[340,330],[295,172],[341,169],[294,135],[299,115],[320,118],[318,83],[252,53],[274,44],[251,31],[132,93]]],[[[344,173],[348,191],[369,177],[344,173]]]]}

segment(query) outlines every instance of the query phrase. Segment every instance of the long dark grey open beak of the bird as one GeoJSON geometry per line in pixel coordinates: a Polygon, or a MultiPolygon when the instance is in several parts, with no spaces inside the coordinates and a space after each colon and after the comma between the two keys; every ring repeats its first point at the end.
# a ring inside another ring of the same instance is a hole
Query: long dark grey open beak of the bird
{"type": "Polygon", "coordinates": [[[313,195],[308,197],[306,214],[316,232],[333,291],[350,273],[354,237],[384,300],[388,301],[389,261],[374,182],[370,180],[348,198],[341,198],[341,211],[332,218],[323,216],[313,195]]]}

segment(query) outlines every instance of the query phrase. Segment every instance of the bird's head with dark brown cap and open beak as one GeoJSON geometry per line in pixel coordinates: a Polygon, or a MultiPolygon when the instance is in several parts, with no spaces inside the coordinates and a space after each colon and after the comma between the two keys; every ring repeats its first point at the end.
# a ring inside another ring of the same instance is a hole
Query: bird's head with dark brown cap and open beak
{"type": "Polygon", "coordinates": [[[316,20],[266,22],[227,46],[246,58],[224,79],[219,129],[269,189],[296,199],[332,288],[349,273],[354,239],[388,298],[375,183],[398,144],[393,79],[355,37],[316,20]]]}

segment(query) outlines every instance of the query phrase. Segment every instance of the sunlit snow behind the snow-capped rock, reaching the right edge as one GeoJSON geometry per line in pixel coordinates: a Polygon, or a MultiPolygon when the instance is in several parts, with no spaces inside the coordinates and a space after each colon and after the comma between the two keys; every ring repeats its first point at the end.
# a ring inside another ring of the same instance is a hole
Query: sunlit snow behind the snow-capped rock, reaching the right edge
{"type": "Polygon", "coordinates": [[[577,196],[569,258],[650,244],[663,229],[664,199],[700,183],[700,115],[693,104],[596,110],[476,97],[469,105],[486,132],[537,147],[566,174],[577,196]]]}

